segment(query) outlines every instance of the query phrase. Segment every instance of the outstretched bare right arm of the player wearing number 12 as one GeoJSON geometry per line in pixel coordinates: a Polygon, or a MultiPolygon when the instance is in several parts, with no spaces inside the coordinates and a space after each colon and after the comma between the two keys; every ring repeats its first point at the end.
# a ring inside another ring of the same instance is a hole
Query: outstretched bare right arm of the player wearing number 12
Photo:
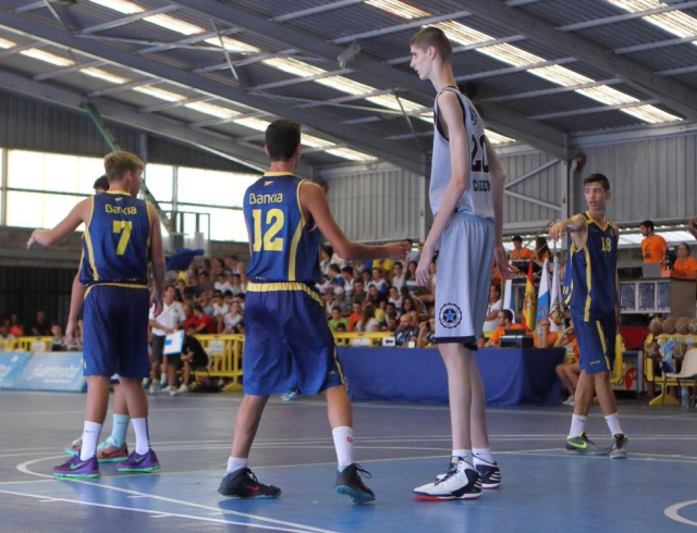
{"type": "Polygon", "coordinates": [[[299,189],[299,196],[303,216],[307,213],[311,215],[319,231],[327,237],[340,258],[358,261],[380,258],[400,260],[406,256],[408,251],[406,240],[381,246],[366,246],[348,240],[331,215],[325,191],[319,185],[304,182],[299,189]]]}

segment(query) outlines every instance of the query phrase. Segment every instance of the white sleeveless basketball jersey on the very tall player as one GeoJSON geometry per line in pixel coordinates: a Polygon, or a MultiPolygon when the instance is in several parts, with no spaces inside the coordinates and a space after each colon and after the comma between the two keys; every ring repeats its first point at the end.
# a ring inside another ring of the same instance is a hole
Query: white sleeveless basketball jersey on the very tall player
{"type": "Polygon", "coordinates": [[[438,97],[443,90],[450,90],[460,98],[465,120],[467,149],[469,150],[469,153],[465,154],[465,164],[469,168],[469,179],[467,181],[467,188],[457,200],[456,210],[482,219],[493,220],[489,161],[484,140],[484,122],[472,102],[454,87],[443,87],[439,90],[433,104],[433,157],[429,188],[431,211],[436,216],[451,176],[450,141],[443,137],[438,124],[438,97]]]}

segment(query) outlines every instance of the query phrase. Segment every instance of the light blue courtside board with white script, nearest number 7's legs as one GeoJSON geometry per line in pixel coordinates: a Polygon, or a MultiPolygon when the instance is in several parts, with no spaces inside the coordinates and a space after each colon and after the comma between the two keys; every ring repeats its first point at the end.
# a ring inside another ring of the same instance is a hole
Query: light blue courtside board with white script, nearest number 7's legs
{"type": "Polygon", "coordinates": [[[83,355],[37,354],[20,375],[14,388],[82,393],[86,389],[83,355]]]}

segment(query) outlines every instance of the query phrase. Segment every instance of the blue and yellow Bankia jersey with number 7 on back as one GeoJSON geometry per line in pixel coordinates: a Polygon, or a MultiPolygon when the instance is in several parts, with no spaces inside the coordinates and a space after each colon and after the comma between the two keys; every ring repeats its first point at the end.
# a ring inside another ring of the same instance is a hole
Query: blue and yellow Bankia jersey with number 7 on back
{"type": "Polygon", "coordinates": [[[122,191],[93,196],[83,234],[81,283],[147,285],[150,227],[145,201],[122,191]]]}

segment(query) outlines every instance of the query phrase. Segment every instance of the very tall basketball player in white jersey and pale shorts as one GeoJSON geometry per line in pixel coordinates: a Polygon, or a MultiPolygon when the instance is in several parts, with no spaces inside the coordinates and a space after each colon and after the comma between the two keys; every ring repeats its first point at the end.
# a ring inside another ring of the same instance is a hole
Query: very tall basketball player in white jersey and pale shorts
{"type": "Polygon", "coordinates": [[[502,241],[505,173],[485,135],[481,117],[457,89],[452,46],[445,34],[426,27],[412,38],[411,49],[412,69],[438,91],[429,190],[435,220],[416,280],[428,285],[428,266],[439,251],[435,340],[448,371],[453,433],[448,470],[435,482],[415,488],[414,497],[474,499],[481,496],[482,487],[501,485],[501,472],[489,446],[484,387],[474,350],[487,313],[493,258],[504,278],[515,274],[502,241]]]}

